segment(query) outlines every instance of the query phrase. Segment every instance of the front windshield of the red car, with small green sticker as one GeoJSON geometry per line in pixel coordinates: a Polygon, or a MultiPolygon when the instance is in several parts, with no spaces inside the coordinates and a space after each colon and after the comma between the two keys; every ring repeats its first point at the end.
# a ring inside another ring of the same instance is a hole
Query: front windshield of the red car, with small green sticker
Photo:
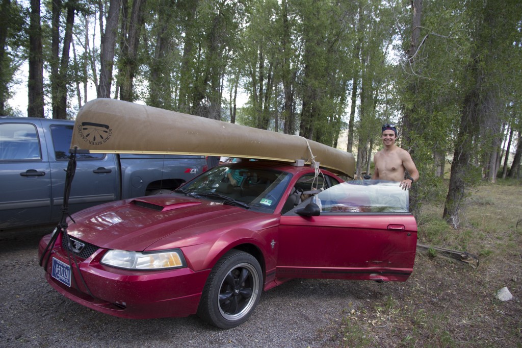
{"type": "Polygon", "coordinates": [[[291,177],[290,173],[256,168],[248,162],[235,163],[214,167],[175,192],[272,213],[291,177]]]}

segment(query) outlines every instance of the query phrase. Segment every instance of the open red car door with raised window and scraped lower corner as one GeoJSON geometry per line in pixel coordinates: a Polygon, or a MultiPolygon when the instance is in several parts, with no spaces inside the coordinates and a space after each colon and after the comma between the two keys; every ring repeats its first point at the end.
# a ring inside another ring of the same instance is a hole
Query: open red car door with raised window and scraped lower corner
{"type": "Polygon", "coordinates": [[[335,185],[281,216],[277,277],[405,281],[417,224],[398,183],[335,185]],[[306,216],[313,203],[318,216],[306,216]]]}

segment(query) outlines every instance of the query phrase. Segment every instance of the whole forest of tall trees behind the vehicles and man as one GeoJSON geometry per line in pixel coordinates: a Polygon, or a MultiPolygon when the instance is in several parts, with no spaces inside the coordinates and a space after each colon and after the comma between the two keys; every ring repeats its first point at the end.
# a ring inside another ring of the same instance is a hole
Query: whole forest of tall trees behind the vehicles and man
{"type": "Polygon", "coordinates": [[[445,196],[454,227],[480,180],[522,176],[519,0],[1,0],[0,15],[2,115],[21,114],[28,66],[31,117],[74,118],[93,87],[334,147],[347,134],[357,175],[395,123],[421,173],[413,213],[445,196]]]}

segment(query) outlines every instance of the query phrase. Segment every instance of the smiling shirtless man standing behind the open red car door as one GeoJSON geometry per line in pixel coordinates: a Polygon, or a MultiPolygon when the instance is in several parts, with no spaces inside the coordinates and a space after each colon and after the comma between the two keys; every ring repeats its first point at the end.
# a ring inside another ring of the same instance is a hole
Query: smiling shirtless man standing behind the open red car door
{"type": "Polygon", "coordinates": [[[372,179],[390,180],[400,182],[399,186],[408,190],[414,181],[419,180],[419,171],[413,163],[410,154],[395,145],[397,129],[393,124],[385,124],[382,127],[384,148],[373,157],[375,171],[372,179]],[[405,171],[410,176],[404,178],[405,171]]]}

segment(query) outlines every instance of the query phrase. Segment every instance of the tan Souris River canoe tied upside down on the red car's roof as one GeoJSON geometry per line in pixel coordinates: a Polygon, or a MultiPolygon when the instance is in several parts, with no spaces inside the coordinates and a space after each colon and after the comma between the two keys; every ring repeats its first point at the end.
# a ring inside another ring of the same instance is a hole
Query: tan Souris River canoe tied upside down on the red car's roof
{"type": "Polygon", "coordinates": [[[91,153],[228,156],[320,167],[353,178],[353,155],[304,137],[260,130],[116,99],[94,99],[78,112],[71,148],[91,153]]]}

